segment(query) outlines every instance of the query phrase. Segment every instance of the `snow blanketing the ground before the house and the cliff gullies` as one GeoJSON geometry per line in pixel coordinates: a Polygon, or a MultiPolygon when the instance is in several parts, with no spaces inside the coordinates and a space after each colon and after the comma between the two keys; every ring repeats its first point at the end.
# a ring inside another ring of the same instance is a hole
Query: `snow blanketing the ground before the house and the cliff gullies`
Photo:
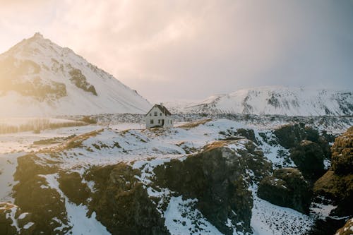
{"type": "MultiPolygon", "coordinates": [[[[156,197],[162,193],[170,197],[167,210],[160,211],[160,213],[165,219],[167,229],[172,234],[183,234],[183,231],[190,231],[189,229],[197,234],[195,218],[201,219],[198,227],[202,226],[203,231],[208,231],[208,234],[220,234],[201,212],[193,207],[196,199],[182,200],[180,197],[172,197],[168,189],[156,192],[148,186],[148,179],[151,177],[152,169],[157,165],[168,162],[172,158],[182,160],[190,152],[196,152],[208,143],[225,138],[222,133],[236,131],[238,128],[253,129],[255,137],[261,141],[259,147],[262,148],[265,157],[273,162],[274,166],[284,164],[284,159],[280,155],[287,154],[287,150],[280,145],[269,145],[261,137],[265,135],[268,139],[273,138],[271,133],[273,126],[248,125],[227,119],[208,120],[198,125],[179,125],[167,130],[145,130],[140,123],[113,123],[105,126],[58,128],[42,131],[40,134],[25,132],[0,135],[0,201],[12,202],[13,200],[10,193],[11,186],[15,183],[13,173],[16,170],[17,157],[25,155],[26,152],[36,152],[45,148],[48,151],[57,149],[60,150],[57,157],[61,162],[61,168],[78,171],[80,175],[92,165],[118,162],[126,162],[133,168],[142,169],[139,180],[147,187],[148,194],[156,197]],[[66,147],[65,142],[33,145],[33,142],[37,140],[67,138],[71,135],[76,135],[74,139],[80,143],[78,147],[66,147]],[[189,216],[181,217],[181,213],[185,212],[188,212],[189,216]]],[[[37,156],[43,159],[50,157],[46,151],[37,153],[37,156]]],[[[85,216],[88,211],[87,207],[74,205],[66,198],[58,187],[55,174],[43,177],[47,179],[48,186],[55,188],[61,198],[64,198],[68,219],[73,226],[71,231],[74,235],[81,234],[82,231],[84,234],[108,234],[102,224],[95,219],[95,214],[89,218],[85,216]]],[[[94,191],[92,182],[87,183],[94,191]]],[[[254,234],[304,234],[313,224],[313,217],[289,208],[272,205],[256,196],[256,187],[250,189],[253,191],[254,198],[251,218],[254,234]]],[[[234,234],[237,233],[234,232],[234,234]]]]}

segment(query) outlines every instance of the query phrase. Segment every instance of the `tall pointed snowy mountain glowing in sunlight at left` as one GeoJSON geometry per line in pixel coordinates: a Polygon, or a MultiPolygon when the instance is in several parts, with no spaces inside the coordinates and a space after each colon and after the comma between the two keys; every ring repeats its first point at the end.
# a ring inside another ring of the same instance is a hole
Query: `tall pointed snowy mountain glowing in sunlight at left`
{"type": "Polygon", "coordinates": [[[0,116],[136,113],[151,104],[40,33],[0,55],[0,116]]]}

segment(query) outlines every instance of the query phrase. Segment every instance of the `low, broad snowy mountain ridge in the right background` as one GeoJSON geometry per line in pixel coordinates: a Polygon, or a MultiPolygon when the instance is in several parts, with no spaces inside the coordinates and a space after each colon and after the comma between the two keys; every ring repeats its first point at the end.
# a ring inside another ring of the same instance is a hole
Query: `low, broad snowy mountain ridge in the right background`
{"type": "Polygon", "coordinates": [[[352,91],[261,87],[213,95],[182,112],[278,114],[287,116],[342,116],[353,114],[352,91]]]}

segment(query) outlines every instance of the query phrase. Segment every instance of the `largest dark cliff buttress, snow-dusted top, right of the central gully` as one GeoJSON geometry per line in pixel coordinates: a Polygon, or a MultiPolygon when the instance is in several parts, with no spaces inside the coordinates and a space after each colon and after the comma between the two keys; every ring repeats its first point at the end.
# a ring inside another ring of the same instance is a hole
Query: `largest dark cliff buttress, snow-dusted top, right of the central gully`
{"type": "Polygon", "coordinates": [[[185,198],[197,198],[198,210],[222,233],[233,233],[225,225],[227,219],[232,224],[242,223],[237,226],[237,231],[246,233],[251,231],[253,205],[248,190],[251,178],[246,169],[252,170],[256,179],[262,179],[270,173],[270,165],[252,141],[217,141],[184,161],[172,159],[156,167],[155,184],[185,198]],[[237,150],[231,147],[232,144],[240,143],[245,147],[237,150]],[[256,162],[254,159],[258,159],[258,164],[251,166],[249,163],[256,162]]]}

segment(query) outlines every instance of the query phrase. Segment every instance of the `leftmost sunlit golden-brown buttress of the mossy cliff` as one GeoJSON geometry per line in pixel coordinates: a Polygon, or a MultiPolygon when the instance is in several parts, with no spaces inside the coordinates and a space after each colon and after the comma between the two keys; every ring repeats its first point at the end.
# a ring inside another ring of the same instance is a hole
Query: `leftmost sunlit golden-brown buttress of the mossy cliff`
{"type": "Polygon", "coordinates": [[[14,174],[18,183],[13,186],[13,197],[22,212],[32,215],[31,222],[35,224],[33,234],[51,234],[57,227],[62,229],[56,234],[66,234],[70,229],[64,200],[55,189],[48,186],[44,178],[45,174],[58,171],[53,163],[36,155],[18,157],[14,174]]]}

